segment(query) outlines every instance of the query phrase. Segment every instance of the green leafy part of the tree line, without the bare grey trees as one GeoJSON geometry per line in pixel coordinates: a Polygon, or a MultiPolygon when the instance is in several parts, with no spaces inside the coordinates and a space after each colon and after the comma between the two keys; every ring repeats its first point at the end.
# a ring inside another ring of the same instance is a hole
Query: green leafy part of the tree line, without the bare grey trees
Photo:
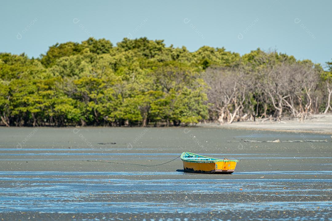
{"type": "MultiPolygon", "coordinates": [[[[260,49],[242,57],[209,46],[189,52],[146,37],[115,47],[92,37],[56,43],[40,59],[0,53],[0,115],[16,126],[195,124],[211,118],[202,79],[209,67],[246,65],[252,72],[285,61],[299,62],[260,49]]],[[[301,63],[320,70],[322,81],[332,79],[320,65],[301,63]]],[[[258,91],[247,96],[257,105],[258,91]]]]}

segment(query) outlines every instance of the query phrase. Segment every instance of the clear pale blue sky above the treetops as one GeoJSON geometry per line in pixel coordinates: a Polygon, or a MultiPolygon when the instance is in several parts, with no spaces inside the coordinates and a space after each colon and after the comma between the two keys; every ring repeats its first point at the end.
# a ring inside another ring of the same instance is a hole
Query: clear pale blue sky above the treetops
{"type": "Polygon", "coordinates": [[[258,47],[332,59],[332,1],[1,1],[0,52],[38,57],[56,42],[90,35],[164,39],[167,46],[225,47],[241,55],[258,47]]]}

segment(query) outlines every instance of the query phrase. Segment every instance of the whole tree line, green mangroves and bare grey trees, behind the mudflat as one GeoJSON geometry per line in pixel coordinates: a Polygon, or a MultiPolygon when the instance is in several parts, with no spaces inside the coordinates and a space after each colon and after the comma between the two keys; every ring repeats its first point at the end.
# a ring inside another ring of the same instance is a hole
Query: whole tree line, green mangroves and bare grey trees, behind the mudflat
{"type": "Polygon", "coordinates": [[[0,125],[179,126],[332,111],[328,71],[262,51],[128,39],[57,43],[39,58],[0,53],[0,125]]]}

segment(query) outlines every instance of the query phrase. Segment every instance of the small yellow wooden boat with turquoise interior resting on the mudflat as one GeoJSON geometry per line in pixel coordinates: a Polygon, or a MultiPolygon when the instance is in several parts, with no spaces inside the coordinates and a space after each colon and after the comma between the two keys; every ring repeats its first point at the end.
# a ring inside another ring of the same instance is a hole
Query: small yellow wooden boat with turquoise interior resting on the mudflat
{"type": "Polygon", "coordinates": [[[184,171],[188,173],[231,174],[235,170],[236,163],[239,162],[238,160],[218,159],[189,152],[183,152],[181,160],[184,171]]]}

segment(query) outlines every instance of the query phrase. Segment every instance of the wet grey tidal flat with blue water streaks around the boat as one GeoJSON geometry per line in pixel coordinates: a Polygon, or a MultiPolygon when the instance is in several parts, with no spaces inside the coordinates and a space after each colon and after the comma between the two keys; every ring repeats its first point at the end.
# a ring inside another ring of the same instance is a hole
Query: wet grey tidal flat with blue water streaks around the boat
{"type": "Polygon", "coordinates": [[[220,128],[34,130],[0,128],[0,219],[327,220],[332,216],[329,135],[220,128]],[[243,142],[246,139],[281,142],[243,142]],[[239,163],[232,175],[184,173],[179,158],[156,167],[114,164],[154,165],[183,151],[239,163]]]}

